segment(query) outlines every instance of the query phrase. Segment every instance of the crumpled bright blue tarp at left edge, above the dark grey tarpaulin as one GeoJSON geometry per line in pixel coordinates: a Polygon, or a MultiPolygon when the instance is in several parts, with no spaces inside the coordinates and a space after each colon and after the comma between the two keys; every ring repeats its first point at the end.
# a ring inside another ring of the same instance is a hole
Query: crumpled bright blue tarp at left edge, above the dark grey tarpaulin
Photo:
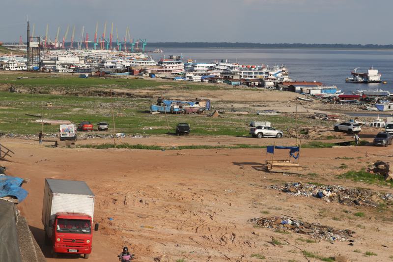
{"type": "Polygon", "coordinates": [[[27,196],[28,192],[23,189],[23,178],[7,175],[0,176],[0,197],[16,197],[21,203],[27,196]]]}

